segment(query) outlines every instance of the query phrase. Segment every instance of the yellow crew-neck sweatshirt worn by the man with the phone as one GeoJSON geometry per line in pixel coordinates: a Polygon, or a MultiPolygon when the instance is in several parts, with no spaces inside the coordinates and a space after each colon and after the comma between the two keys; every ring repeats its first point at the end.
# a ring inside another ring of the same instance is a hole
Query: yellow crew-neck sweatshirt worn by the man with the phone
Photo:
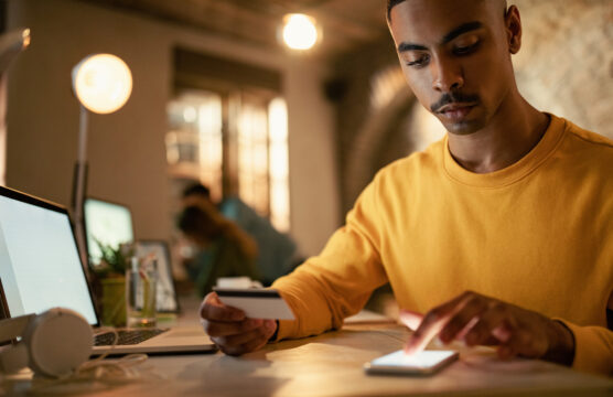
{"type": "Polygon", "coordinates": [[[419,312],[473,290],[561,320],[573,367],[611,374],[613,142],[550,117],[496,172],[460,167],[447,138],[379,171],[321,255],[275,282],[298,318],[278,339],[341,328],[387,281],[419,312]]]}

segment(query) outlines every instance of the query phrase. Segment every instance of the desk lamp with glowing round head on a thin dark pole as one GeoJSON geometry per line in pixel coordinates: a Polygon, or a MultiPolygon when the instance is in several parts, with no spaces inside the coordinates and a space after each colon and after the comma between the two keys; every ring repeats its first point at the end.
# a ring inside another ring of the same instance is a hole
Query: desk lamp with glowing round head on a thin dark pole
{"type": "MultiPolygon", "coordinates": [[[[107,115],[121,108],[132,92],[128,65],[111,54],[93,54],[73,68],[73,89],[80,103],[78,154],[73,176],[73,216],[82,264],[87,264],[83,202],[87,175],[87,118],[89,111],[107,115]]],[[[87,269],[87,267],[86,267],[87,269]]]]}

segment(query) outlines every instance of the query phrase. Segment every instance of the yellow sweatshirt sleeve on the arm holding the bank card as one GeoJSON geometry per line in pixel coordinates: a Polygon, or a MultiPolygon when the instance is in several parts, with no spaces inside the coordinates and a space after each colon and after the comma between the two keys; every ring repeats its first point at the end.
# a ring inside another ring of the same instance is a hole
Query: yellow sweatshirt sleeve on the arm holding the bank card
{"type": "Polygon", "coordinates": [[[343,319],[357,313],[373,290],[387,282],[378,251],[380,234],[364,207],[376,207],[372,185],[321,255],[272,285],[297,316],[295,321],[279,322],[277,340],[340,329],[343,319]]]}

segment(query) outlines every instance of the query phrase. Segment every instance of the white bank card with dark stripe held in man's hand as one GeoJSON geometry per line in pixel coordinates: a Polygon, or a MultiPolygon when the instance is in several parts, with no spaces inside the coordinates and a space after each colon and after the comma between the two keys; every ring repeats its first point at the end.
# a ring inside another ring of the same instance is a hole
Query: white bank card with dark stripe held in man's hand
{"type": "Polygon", "coordinates": [[[213,288],[219,300],[250,319],[295,320],[279,291],[255,288],[213,288]]]}

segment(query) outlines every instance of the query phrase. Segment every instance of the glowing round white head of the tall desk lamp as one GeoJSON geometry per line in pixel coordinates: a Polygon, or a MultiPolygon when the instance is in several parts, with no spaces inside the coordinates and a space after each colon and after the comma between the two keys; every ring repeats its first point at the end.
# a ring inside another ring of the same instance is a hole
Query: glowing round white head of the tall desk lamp
{"type": "Polygon", "coordinates": [[[88,110],[114,112],[130,97],[132,74],[121,58],[111,54],[93,54],[73,68],[73,89],[88,110]]]}

